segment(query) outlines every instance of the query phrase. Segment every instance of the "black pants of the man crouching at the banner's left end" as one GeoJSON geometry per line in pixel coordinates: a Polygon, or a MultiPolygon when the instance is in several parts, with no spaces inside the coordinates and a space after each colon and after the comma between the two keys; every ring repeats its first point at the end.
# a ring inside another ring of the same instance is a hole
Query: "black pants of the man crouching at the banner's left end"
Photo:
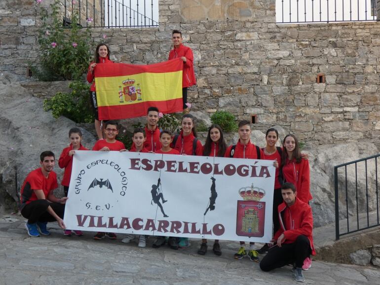
{"type": "Polygon", "coordinates": [[[56,219],[47,212],[47,207],[51,207],[55,214],[60,218],[63,218],[65,213],[65,205],[59,203],[50,203],[47,200],[40,199],[32,201],[21,210],[21,214],[24,218],[28,219],[29,224],[36,222],[54,222],[56,219]]]}

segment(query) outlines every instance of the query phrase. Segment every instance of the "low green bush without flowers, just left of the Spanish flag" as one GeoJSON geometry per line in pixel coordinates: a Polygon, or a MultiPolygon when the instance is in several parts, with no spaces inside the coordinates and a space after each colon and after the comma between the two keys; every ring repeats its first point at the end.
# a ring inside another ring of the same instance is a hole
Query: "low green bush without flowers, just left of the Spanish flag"
{"type": "Polygon", "coordinates": [[[52,98],[43,101],[43,109],[51,110],[54,118],[65,116],[76,123],[94,121],[94,114],[88,102],[88,85],[82,81],[69,84],[71,93],[56,93],[52,98]]]}

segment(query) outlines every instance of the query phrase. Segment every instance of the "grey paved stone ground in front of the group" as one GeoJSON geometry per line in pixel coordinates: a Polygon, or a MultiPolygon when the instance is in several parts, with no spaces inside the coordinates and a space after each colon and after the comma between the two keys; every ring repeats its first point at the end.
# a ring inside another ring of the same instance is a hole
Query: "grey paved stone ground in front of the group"
{"type": "MultiPolygon", "coordinates": [[[[65,237],[56,223],[48,224],[50,236],[30,238],[24,224],[20,216],[0,216],[1,285],[296,283],[290,267],[265,273],[248,258],[233,259],[236,242],[222,241],[222,256],[214,255],[210,247],[205,256],[199,256],[196,240],[187,249],[173,250],[152,249],[150,238],[147,248],[141,249],[135,242],[122,244],[123,235],[115,241],[95,241],[92,232],[65,237]]],[[[379,284],[380,270],[313,261],[304,275],[308,284],[379,284]]]]}

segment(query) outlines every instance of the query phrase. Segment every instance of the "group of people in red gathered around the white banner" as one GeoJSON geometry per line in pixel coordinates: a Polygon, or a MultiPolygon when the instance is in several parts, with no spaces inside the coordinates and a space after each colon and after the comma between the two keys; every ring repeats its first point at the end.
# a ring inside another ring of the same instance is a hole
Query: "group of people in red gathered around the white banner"
{"type": "MultiPolygon", "coordinates": [[[[133,132],[132,145],[129,151],[152,152],[177,155],[219,156],[243,159],[273,160],[276,167],[275,183],[273,189],[273,244],[266,244],[261,249],[255,249],[254,243],[250,243],[248,249],[244,242],[240,242],[240,248],[234,254],[234,258],[241,259],[248,256],[252,261],[259,262],[259,254],[267,252],[262,258],[260,267],[269,271],[287,264],[294,264],[294,272],[297,281],[304,281],[302,270],[311,266],[310,254],[315,254],[312,242],[313,218],[311,208],[308,205],[312,199],[310,194],[309,165],[307,156],[302,157],[298,140],[293,134],[287,135],[282,147],[276,146],[278,132],[274,128],[266,131],[266,147],[260,148],[251,142],[251,125],[247,120],[238,124],[239,140],[235,145],[228,146],[223,130],[219,125],[213,124],[208,129],[205,144],[196,138],[195,118],[190,113],[185,113],[181,120],[179,134],[171,134],[167,130],[158,128],[159,110],[149,107],[147,110],[147,124],[144,128],[137,128],[133,132]]],[[[105,137],[98,140],[92,150],[99,151],[127,151],[123,143],[116,140],[119,125],[116,121],[105,123],[105,137]]],[[[103,136],[103,134],[102,134],[103,136]]],[[[76,150],[86,150],[81,144],[82,134],[78,128],[69,131],[70,146],[63,149],[58,164],[65,169],[62,179],[65,195],[69,191],[72,172],[73,155],[76,150]]],[[[32,171],[25,179],[21,188],[21,214],[28,219],[26,229],[32,237],[40,234],[49,235],[46,224],[49,221],[57,221],[64,229],[64,235],[82,235],[81,231],[66,229],[63,223],[64,204],[67,197],[57,198],[53,189],[58,187],[56,174],[53,172],[55,163],[54,154],[44,151],[40,156],[41,167],[32,171]]],[[[159,182],[157,183],[157,185],[159,182]]],[[[165,200],[162,197],[162,203],[165,200]]],[[[157,206],[158,203],[157,203],[157,206]]],[[[116,239],[114,233],[98,232],[95,240],[105,237],[116,239]]],[[[136,236],[126,235],[122,242],[129,243],[136,236]]],[[[139,247],[146,247],[146,237],[138,237],[139,247]]],[[[171,249],[179,249],[189,246],[187,238],[157,237],[153,243],[154,248],[159,248],[165,243],[171,249]]],[[[213,252],[221,255],[222,250],[218,240],[214,241],[213,252]]],[[[207,240],[201,241],[198,253],[207,252],[207,240]]]]}

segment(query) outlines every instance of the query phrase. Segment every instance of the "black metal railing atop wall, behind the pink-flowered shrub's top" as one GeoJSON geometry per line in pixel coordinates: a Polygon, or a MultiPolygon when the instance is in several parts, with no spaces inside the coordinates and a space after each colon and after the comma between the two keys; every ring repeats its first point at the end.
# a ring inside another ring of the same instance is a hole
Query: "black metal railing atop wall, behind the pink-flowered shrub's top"
{"type": "Polygon", "coordinates": [[[158,0],[63,0],[64,25],[73,9],[79,24],[91,28],[158,27],[158,0]]]}

